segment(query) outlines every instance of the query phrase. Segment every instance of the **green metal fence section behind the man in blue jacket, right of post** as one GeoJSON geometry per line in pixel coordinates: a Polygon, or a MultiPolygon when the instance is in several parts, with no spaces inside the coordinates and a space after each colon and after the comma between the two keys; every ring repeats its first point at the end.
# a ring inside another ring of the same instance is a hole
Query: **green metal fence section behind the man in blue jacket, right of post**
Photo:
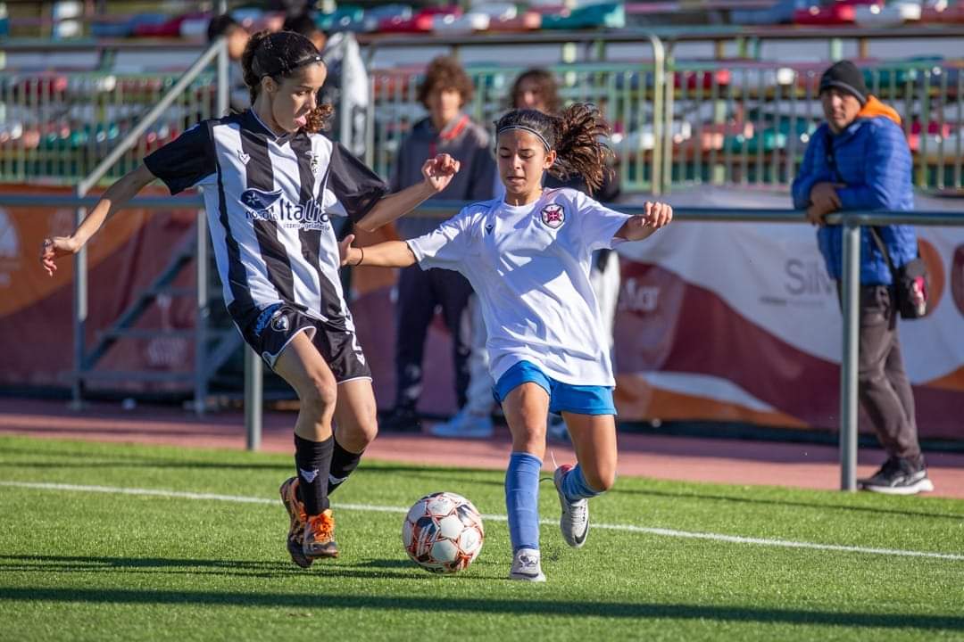
{"type": "MultiPolygon", "coordinates": [[[[823,120],[826,64],[671,62],[667,69],[669,186],[789,185],[823,120]]],[[[897,109],[919,188],[961,190],[964,62],[864,65],[871,92],[897,109]]]]}

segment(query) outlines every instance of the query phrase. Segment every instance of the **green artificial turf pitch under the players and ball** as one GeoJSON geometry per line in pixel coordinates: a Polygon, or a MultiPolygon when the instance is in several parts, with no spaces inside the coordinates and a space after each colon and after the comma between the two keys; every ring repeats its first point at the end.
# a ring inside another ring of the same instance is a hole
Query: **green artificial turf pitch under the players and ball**
{"type": "MultiPolygon", "coordinates": [[[[505,579],[498,472],[363,462],[333,496],[341,556],[303,571],[277,501],[291,470],[275,454],[0,437],[0,638],[964,639],[964,501],[622,477],[591,502],[583,549],[542,527],[549,581],[530,584],[505,579]],[[478,559],[453,577],[416,568],[401,547],[404,509],[437,490],[492,516],[478,559]]],[[[541,488],[554,522],[551,481],[541,488]]]]}

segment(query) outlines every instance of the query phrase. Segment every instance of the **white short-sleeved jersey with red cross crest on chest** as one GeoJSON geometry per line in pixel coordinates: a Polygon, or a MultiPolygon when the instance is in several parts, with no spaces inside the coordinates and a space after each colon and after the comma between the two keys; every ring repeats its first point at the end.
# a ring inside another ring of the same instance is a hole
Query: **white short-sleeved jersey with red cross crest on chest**
{"type": "Polygon", "coordinates": [[[423,270],[457,270],[471,282],[495,381],[524,360],[565,383],[613,386],[589,269],[628,218],[576,190],[547,190],[520,207],[469,205],[408,244],[423,270]]]}

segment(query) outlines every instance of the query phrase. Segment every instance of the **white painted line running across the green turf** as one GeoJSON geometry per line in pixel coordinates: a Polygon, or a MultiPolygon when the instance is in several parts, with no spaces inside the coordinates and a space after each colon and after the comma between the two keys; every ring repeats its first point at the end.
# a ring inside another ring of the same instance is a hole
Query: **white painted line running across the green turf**
{"type": "MultiPolygon", "coordinates": [[[[259,497],[243,497],[238,495],[217,495],[214,493],[188,493],[183,491],[155,490],[151,488],[119,488],[115,486],[80,486],[75,484],[54,484],[30,481],[0,481],[0,486],[13,488],[30,488],[34,490],[69,491],[80,493],[110,493],[114,495],[141,495],[176,500],[201,501],[233,501],[237,503],[265,503],[275,504],[278,500],[268,500],[259,497]]],[[[407,508],[401,506],[378,506],[367,503],[334,503],[339,510],[359,510],[370,513],[398,513],[405,514],[407,508]]],[[[483,515],[483,519],[495,522],[505,522],[505,515],[483,515]]],[[[540,520],[540,524],[554,525],[558,520],[540,520]]],[[[723,535],[721,533],[693,532],[676,530],[674,528],[654,528],[650,526],[632,526],[630,524],[598,524],[593,528],[603,530],[620,530],[624,532],[644,533],[662,537],[681,537],[684,539],[702,539],[714,542],[729,542],[731,544],[753,544],[783,549],[810,549],[814,551],[861,552],[873,555],[897,555],[901,557],[930,557],[934,559],[950,559],[964,561],[964,554],[950,552],[903,551],[900,549],[873,549],[861,546],[842,546],[837,544],[817,544],[816,542],[794,542],[783,539],[764,539],[762,537],[741,537],[738,535],[723,535]]]]}

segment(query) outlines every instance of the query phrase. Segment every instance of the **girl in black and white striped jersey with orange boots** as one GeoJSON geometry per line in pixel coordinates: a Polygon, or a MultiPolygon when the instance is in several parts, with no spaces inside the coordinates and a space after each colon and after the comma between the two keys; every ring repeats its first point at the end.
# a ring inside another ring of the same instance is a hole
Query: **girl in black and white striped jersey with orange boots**
{"type": "Polygon", "coordinates": [[[43,243],[41,262],[76,253],[105,220],[155,178],[178,193],[203,188],[231,319],[248,344],[298,394],[298,475],[281,485],[288,552],[307,568],[335,557],[328,494],[358,466],[377,431],[371,372],[338,278],[332,216],[374,230],[441,192],[459,163],[441,154],[421,183],[388,186],[320,132],[332,115],[316,94],[326,68],[315,46],[290,32],[262,32],[242,57],[251,109],[205,120],[123,176],[68,237],[43,243]],[[337,434],[333,434],[333,419],[337,434]]]}

